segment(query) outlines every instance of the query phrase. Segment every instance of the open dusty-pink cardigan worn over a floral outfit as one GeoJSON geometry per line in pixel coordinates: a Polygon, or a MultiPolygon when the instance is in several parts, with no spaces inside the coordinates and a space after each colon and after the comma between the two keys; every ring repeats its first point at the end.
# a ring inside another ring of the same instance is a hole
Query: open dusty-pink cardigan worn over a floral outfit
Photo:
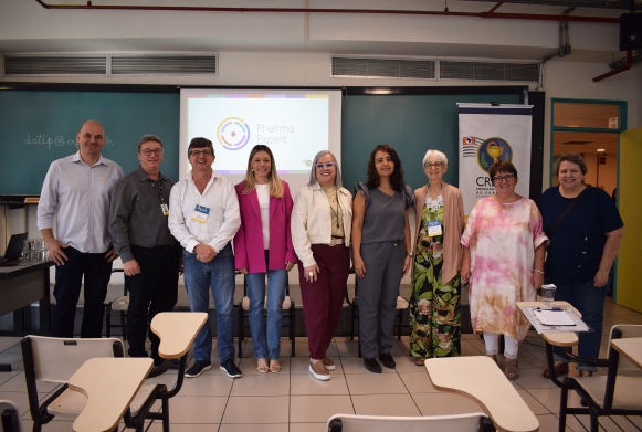
{"type": "MultiPolygon", "coordinates": [[[[452,280],[462,265],[464,253],[460,241],[462,240],[462,232],[464,231],[464,201],[462,192],[454,186],[442,182],[441,193],[443,196],[443,267],[442,282],[445,284],[452,280]]],[[[428,185],[414,191],[414,241],[412,253],[417,250],[417,232],[421,225],[421,213],[423,212],[423,204],[425,196],[428,194],[428,185]]],[[[414,281],[414,264],[412,265],[411,281],[414,281]]]]}

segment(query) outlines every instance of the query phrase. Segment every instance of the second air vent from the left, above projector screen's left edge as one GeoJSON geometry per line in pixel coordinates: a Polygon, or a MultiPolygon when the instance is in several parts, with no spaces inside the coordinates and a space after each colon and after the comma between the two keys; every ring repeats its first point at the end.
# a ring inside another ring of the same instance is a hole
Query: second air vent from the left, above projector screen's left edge
{"type": "Polygon", "coordinates": [[[112,75],[218,75],[218,55],[113,54],[112,75]]]}

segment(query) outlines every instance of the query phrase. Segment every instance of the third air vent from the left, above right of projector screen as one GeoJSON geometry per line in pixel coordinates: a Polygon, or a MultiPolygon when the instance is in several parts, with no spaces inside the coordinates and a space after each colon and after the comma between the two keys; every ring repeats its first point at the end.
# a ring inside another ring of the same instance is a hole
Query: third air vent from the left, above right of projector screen
{"type": "Polygon", "coordinates": [[[333,77],[435,80],[434,60],[331,57],[333,77]]]}

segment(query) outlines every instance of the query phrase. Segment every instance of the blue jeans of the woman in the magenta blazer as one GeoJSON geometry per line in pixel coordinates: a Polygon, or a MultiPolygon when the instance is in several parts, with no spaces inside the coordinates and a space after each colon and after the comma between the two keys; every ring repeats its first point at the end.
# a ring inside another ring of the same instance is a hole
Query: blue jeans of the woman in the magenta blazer
{"type": "MultiPolygon", "coordinates": [[[[270,268],[269,251],[265,251],[265,268],[270,268]]],[[[254,357],[277,360],[281,355],[281,325],[283,324],[283,301],[287,272],[267,270],[266,273],[250,273],[248,297],[250,297],[250,329],[254,357]],[[265,274],[267,274],[267,330],[265,330],[265,274]],[[267,336],[267,337],[266,337],[267,336]],[[267,343],[266,343],[267,340],[267,343]]]]}

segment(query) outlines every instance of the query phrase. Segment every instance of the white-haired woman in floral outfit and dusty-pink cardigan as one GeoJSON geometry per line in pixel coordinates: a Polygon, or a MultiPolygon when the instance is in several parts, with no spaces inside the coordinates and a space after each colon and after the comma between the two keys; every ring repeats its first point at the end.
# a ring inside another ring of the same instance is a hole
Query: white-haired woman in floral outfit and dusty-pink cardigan
{"type": "Polygon", "coordinates": [[[417,366],[430,357],[460,355],[461,234],[464,204],[457,188],[442,181],[448,158],[428,150],[428,185],[414,191],[417,238],[410,293],[410,355],[417,366]]]}

